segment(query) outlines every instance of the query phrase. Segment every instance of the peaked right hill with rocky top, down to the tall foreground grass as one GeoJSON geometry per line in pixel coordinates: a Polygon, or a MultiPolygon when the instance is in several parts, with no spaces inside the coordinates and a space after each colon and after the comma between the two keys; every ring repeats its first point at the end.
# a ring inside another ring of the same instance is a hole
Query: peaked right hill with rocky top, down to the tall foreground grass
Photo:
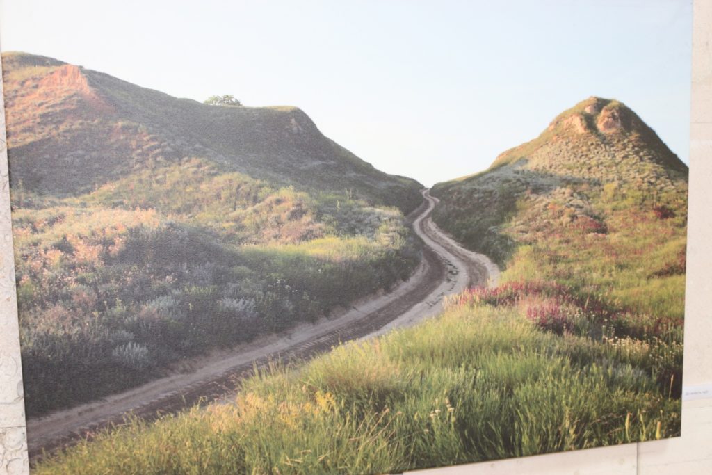
{"type": "MultiPolygon", "coordinates": [[[[679,395],[687,177],[687,166],[632,110],[589,98],[485,172],[436,184],[434,219],[496,258],[505,285],[563,286],[592,309],[589,320],[606,326],[598,338],[679,346],[679,360],[658,375],[679,395]]],[[[562,330],[572,322],[560,305],[528,313],[562,330]]]]}

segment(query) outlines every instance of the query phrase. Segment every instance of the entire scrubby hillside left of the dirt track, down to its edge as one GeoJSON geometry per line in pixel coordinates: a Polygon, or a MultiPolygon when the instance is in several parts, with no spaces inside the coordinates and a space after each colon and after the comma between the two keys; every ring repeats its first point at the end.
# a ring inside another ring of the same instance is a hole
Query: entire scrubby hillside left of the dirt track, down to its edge
{"type": "Polygon", "coordinates": [[[296,108],[2,60],[30,416],[328,315],[419,259],[404,213],[421,186],[296,108]]]}

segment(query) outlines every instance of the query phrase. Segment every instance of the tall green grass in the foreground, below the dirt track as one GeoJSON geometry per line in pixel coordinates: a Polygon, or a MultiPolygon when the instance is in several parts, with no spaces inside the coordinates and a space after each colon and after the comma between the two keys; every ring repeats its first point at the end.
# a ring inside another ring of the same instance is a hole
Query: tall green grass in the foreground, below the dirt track
{"type": "Polygon", "coordinates": [[[523,302],[439,318],[248,380],[235,404],[132,421],[36,474],[382,473],[679,434],[680,403],[609,340],[523,302]]]}

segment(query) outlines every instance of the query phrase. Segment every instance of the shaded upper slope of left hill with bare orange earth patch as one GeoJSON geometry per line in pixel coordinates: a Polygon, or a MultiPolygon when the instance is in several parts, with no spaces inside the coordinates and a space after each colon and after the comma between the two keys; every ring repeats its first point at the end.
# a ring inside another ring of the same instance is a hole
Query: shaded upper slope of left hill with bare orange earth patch
{"type": "Polygon", "coordinates": [[[201,157],[298,188],[343,191],[409,212],[420,185],[375,169],[293,107],[204,105],[44,56],[4,53],[14,183],[87,192],[143,167],[201,157]]]}

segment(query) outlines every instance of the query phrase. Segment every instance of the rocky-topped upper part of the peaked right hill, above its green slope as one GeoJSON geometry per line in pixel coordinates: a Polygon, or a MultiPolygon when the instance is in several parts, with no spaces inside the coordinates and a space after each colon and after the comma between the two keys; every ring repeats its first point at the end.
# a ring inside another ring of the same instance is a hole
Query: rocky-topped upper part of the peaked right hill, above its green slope
{"type": "MultiPolygon", "coordinates": [[[[603,219],[595,204],[600,199],[647,212],[680,207],[687,173],[626,105],[591,97],[557,115],[539,137],[503,152],[486,171],[436,184],[431,193],[441,204],[434,219],[504,265],[531,229],[552,224],[548,207],[562,207],[572,223],[582,218],[579,224],[603,219]],[[523,209],[538,218],[521,222],[523,209]]],[[[685,214],[684,207],[679,212],[685,214]]]]}

